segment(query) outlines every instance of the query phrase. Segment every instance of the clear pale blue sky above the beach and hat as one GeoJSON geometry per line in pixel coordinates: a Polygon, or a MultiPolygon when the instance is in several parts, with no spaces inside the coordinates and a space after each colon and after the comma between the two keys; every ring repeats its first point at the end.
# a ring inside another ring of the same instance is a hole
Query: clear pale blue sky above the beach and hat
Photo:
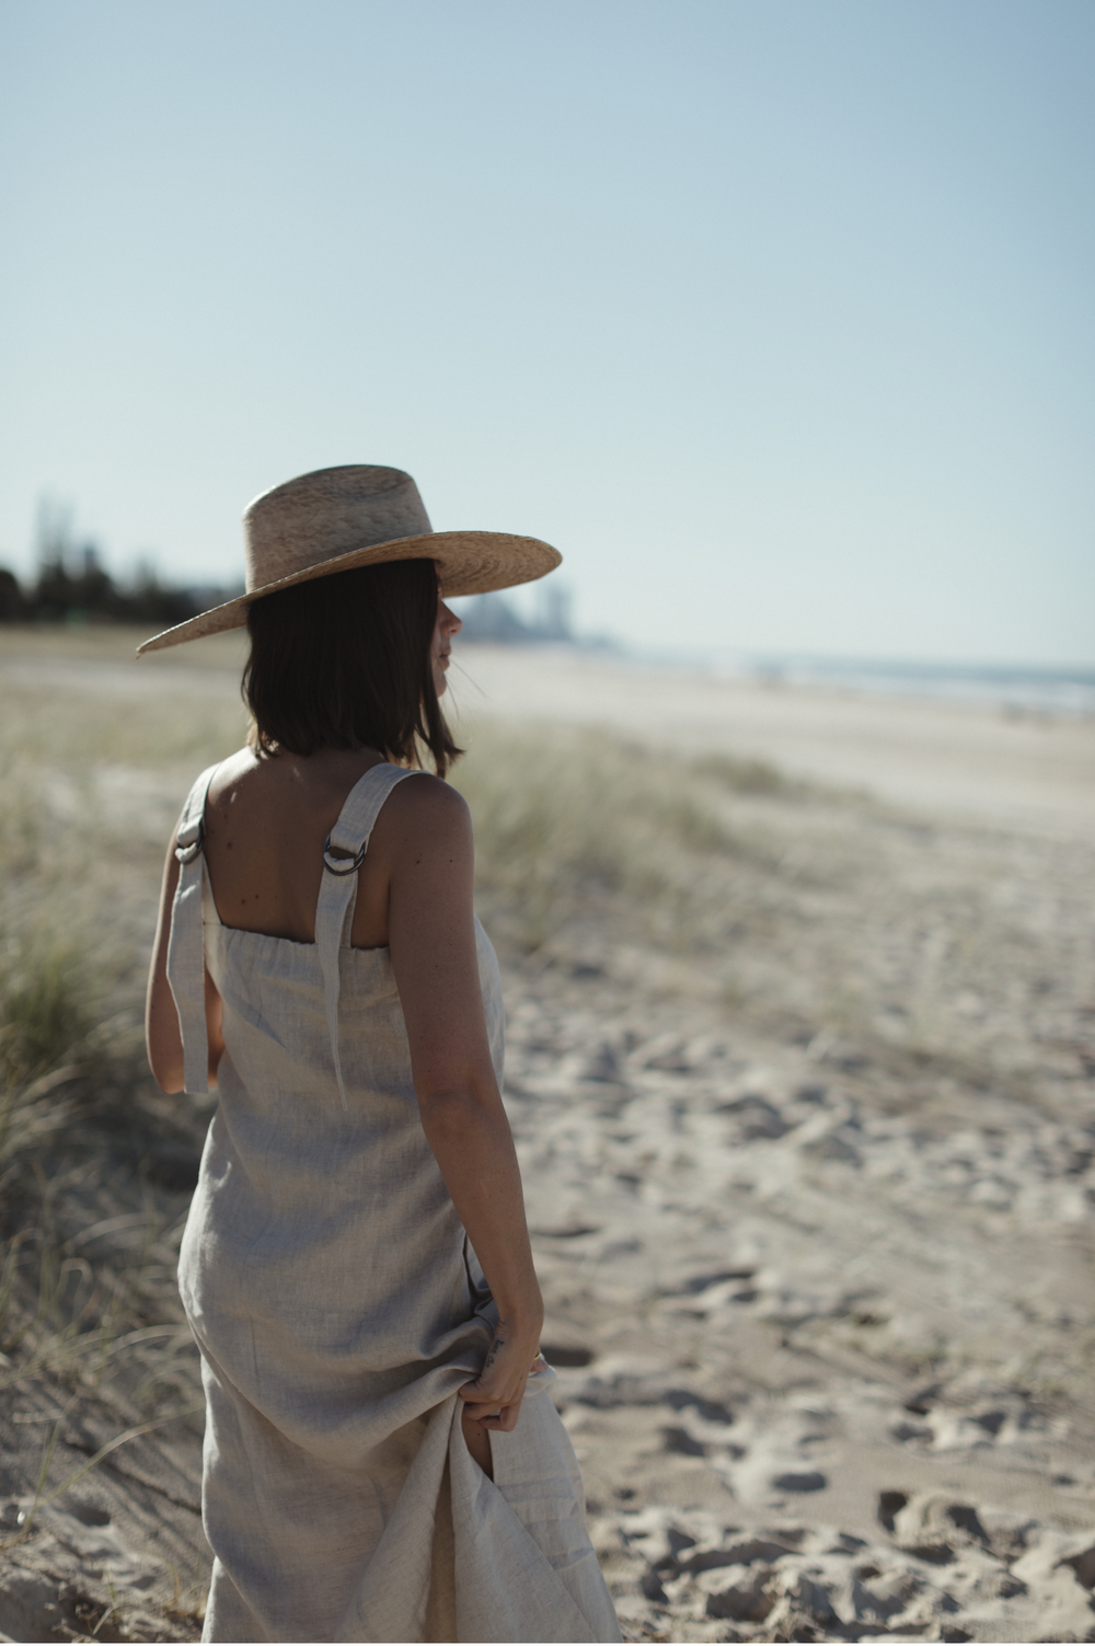
{"type": "Polygon", "coordinates": [[[392,463],[669,647],[1095,662],[1092,0],[7,0],[0,563],[392,463]]]}

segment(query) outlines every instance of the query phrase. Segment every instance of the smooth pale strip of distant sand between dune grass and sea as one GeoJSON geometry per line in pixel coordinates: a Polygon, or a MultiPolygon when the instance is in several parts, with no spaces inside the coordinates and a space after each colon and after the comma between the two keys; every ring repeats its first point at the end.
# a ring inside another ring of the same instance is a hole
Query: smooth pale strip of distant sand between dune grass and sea
{"type": "Polygon", "coordinates": [[[459,647],[469,718],[606,726],[652,747],[729,752],[916,810],[1090,835],[1092,719],[916,701],[779,677],[720,678],[565,649],[459,647]]]}

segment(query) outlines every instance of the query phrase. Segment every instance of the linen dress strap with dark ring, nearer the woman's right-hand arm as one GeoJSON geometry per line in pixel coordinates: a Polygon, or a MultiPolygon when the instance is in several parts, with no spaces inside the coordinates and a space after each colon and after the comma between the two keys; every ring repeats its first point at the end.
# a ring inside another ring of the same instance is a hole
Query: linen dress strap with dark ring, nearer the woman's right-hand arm
{"type": "MultiPolygon", "coordinates": [[[[357,871],[369,851],[369,836],[380,813],[380,807],[397,783],[405,777],[415,777],[415,770],[405,765],[370,765],[364,777],[359,777],[346,797],[339,811],[339,820],[323,843],[323,884],[319,886],[319,902],[316,905],[316,948],[319,951],[319,969],[323,971],[323,997],[328,1014],[328,1032],[331,1035],[331,1052],[334,1053],[334,1076],[339,1085],[342,1108],[346,1103],[346,1083],[342,1080],[342,1058],[339,1057],[339,989],[341,989],[341,950],[349,948],[349,930],[357,902],[357,871]],[[344,856],[333,856],[333,853],[344,856]]],[[[188,1088],[189,1090],[189,1088],[188,1088]]]]}

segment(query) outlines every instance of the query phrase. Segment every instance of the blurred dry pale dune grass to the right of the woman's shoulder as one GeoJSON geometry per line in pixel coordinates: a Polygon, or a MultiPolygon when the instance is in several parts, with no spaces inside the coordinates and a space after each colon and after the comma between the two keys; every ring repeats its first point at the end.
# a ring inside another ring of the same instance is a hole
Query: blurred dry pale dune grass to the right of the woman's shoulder
{"type": "MultiPolygon", "coordinates": [[[[456,783],[514,953],[629,943],[780,1040],[1072,1103],[1095,1057],[1095,853],[917,820],[754,760],[481,728],[456,783]]],[[[662,986],[667,979],[662,978],[662,986]]],[[[920,1081],[922,1083],[922,1081],[920,1081]]]]}

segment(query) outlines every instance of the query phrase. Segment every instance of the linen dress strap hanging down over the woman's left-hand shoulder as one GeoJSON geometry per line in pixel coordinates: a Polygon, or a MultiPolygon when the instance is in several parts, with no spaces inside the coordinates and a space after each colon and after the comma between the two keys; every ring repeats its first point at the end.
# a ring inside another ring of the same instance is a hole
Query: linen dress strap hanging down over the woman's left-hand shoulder
{"type": "MultiPolygon", "coordinates": [[[[219,762],[217,762],[219,765],[219,762]]],[[[206,1027],[206,953],[203,894],[206,882],[206,795],[217,765],[201,774],[183,807],[175,856],[179,884],[171,904],[168,983],[183,1035],[183,1088],[193,1096],[209,1091],[209,1030],[206,1027]]]]}

